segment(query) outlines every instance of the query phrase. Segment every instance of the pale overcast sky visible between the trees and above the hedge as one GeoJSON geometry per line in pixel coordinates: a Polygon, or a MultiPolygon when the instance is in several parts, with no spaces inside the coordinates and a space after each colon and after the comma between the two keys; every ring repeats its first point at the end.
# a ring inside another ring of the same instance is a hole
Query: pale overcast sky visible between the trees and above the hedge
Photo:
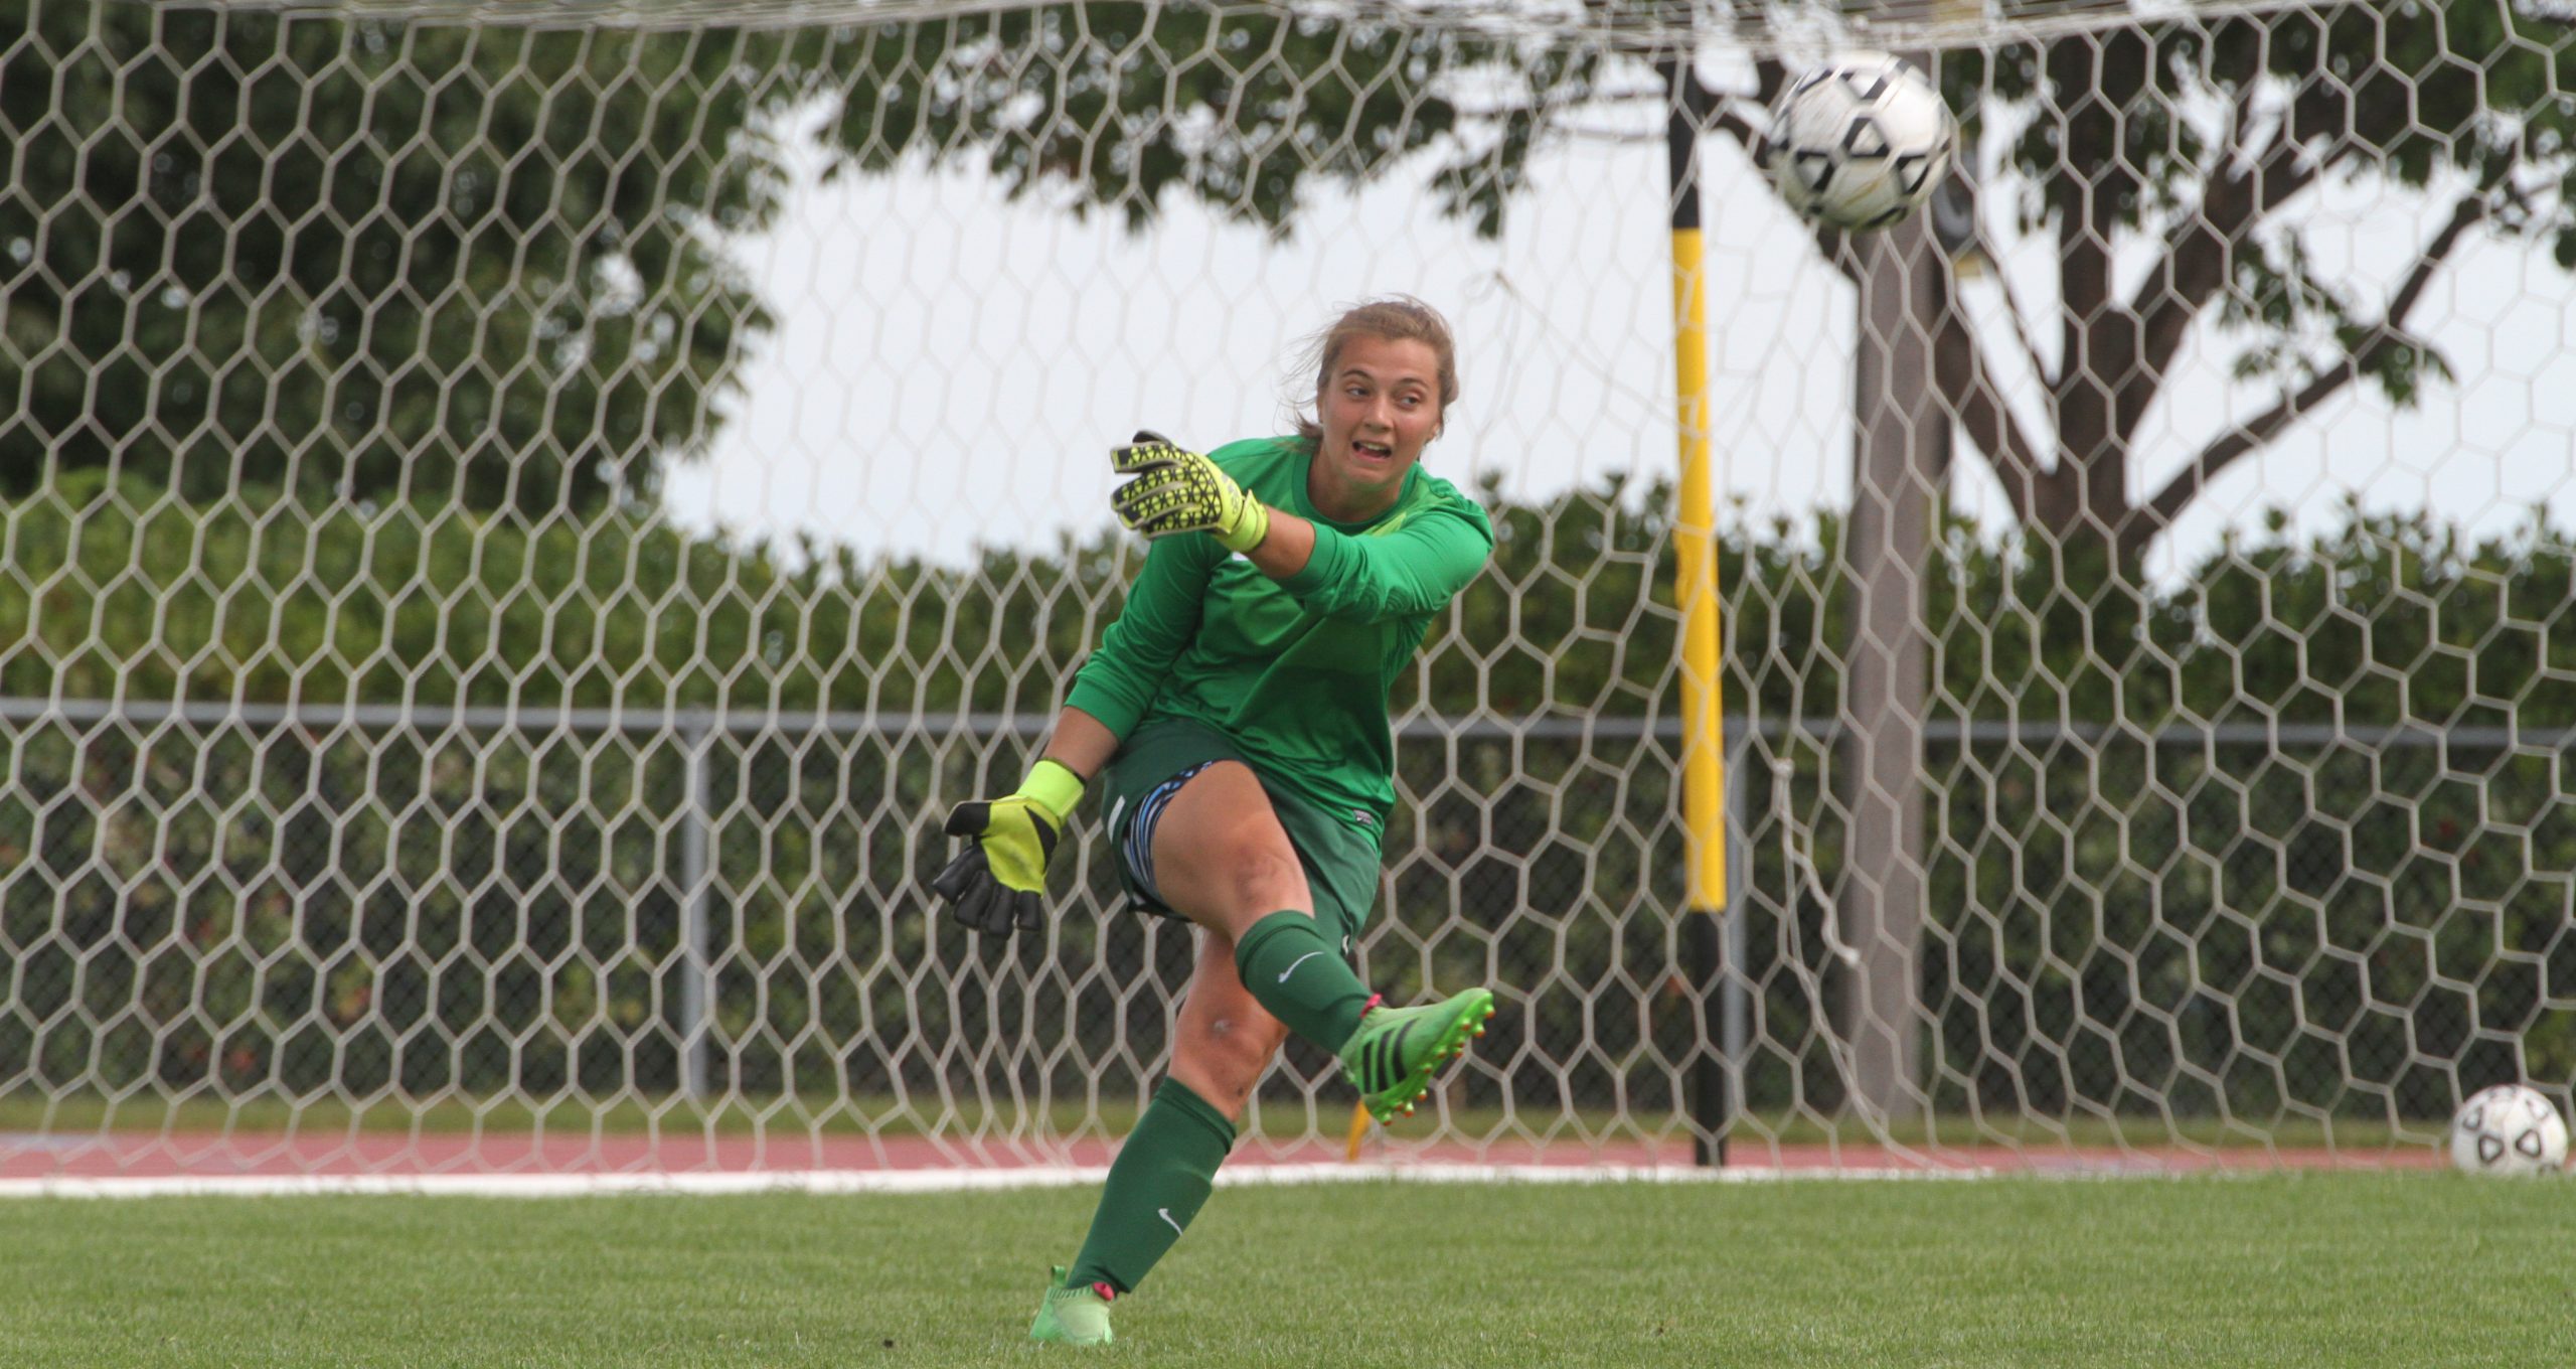
{"type": "MultiPolygon", "coordinates": [[[[1170,201],[1146,235],[1010,204],[979,173],[822,183],[819,157],[773,232],[739,245],[778,330],[706,461],[670,482],[696,529],[963,559],[979,541],[1108,526],[1105,449],[1136,425],[1198,446],[1285,423],[1291,348],[1340,304],[1430,299],[1458,325],[1466,394],[1430,467],[1497,472],[1546,495],[1607,472],[1674,469],[1662,144],[1582,142],[1533,168],[1499,240],[1437,214],[1419,178],[1311,199],[1288,240],[1170,201]]],[[[1708,162],[1716,325],[1716,482],[1754,516],[1808,518],[1850,490],[1852,294],[1721,144],[1708,162]]],[[[2367,191],[2300,204],[2326,278],[2375,309],[2447,206],[2367,191]]],[[[1989,227],[2009,229],[1989,199],[1989,227]]],[[[2141,268],[2143,258],[2128,266],[2141,268]]],[[[2025,307],[2053,304],[2045,245],[2007,253],[2025,307]]],[[[1971,307],[2009,343],[1994,276],[1971,307]]],[[[2164,541],[2156,570],[2208,554],[2269,505],[2331,521],[2344,490],[2372,508],[2434,508],[2496,531],[2540,500],[2576,521],[2576,289],[2545,250],[2476,240],[2416,312],[2458,382],[2396,413],[2367,387],[2231,469],[2164,541]]],[[[2056,330],[2040,333],[2053,345],[2056,330]]],[[[2141,482],[2223,423],[2272,405],[2231,382],[2241,340],[2202,327],[2141,436],[2141,482]]],[[[2038,420],[2038,387],[2009,374],[2038,420]]],[[[1311,382],[1309,382],[1311,384],[1311,382]]],[[[1965,446],[1960,498],[2002,521],[1965,446]]],[[[1731,513],[1721,513],[1721,521],[1731,513]]]]}

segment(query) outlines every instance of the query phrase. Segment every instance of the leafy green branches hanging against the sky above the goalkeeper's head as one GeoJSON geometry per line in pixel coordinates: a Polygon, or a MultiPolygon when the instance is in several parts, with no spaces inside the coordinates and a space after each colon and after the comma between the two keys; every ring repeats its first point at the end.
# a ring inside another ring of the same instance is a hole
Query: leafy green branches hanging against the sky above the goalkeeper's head
{"type": "Polygon", "coordinates": [[[819,64],[845,168],[981,165],[1131,227],[1177,188],[1275,232],[1314,178],[1363,183],[1425,150],[1448,157],[1443,204],[1499,232],[1533,147],[1618,75],[1543,39],[1131,0],[855,28],[819,64]]]}

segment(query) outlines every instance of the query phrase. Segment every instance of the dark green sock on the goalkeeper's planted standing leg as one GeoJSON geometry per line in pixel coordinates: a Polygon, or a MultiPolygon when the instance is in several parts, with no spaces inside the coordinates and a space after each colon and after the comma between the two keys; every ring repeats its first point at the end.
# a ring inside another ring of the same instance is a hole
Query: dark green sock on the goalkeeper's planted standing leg
{"type": "Polygon", "coordinates": [[[1180,1240],[1182,1227],[1208,1201],[1216,1168],[1234,1150],[1234,1124],[1216,1103],[1190,1085],[1167,1078],[1154,1088],[1136,1129],[1128,1132],[1110,1178],[1100,1186],[1100,1209],[1082,1238],[1074,1271],[1064,1286],[1108,1284],[1133,1292],[1154,1261],[1180,1240]]]}

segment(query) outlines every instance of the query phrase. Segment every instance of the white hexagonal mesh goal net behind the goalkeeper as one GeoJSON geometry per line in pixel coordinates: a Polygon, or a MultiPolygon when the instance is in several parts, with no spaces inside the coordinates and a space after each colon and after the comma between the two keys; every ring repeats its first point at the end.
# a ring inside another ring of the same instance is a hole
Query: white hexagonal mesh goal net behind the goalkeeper
{"type": "MultiPolygon", "coordinates": [[[[1973,152],[1870,240],[1744,147],[1852,15],[317,10],[0,5],[10,1173],[1095,1152],[1188,933],[1082,846],[976,946],[938,817],[1118,611],[1105,446],[1275,431],[1285,343],[1383,289],[1461,325],[1430,464],[1499,544],[1399,691],[1365,969],[1504,1013],[1376,1145],[2391,1152],[2568,1101],[2548,5],[1883,28],[1973,152]]],[[[1293,1047],[1247,1147],[1345,1121],[1293,1047]]]]}

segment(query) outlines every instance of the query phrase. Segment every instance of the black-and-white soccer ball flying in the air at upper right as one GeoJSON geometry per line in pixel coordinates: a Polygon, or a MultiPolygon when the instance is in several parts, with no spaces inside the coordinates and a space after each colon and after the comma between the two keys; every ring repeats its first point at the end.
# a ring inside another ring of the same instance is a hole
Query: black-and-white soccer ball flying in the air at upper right
{"type": "Polygon", "coordinates": [[[1844,52],[1772,106],[1762,162],[1790,209],[1847,229],[1883,229],[1932,199],[1958,124],[1904,57],[1844,52]]]}

